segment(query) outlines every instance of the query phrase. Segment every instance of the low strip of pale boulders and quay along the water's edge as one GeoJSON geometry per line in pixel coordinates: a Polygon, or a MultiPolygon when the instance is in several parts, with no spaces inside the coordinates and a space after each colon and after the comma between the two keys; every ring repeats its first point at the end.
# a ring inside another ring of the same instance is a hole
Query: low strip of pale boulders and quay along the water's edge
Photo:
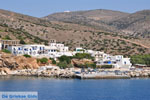
{"type": "MultiPolygon", "coordinates": [[[[34,76],[48,78],[78,78],[80,73],[84,79],[129,79],[150,77],[150,68],[135,69],[85,69],[81,73],[81,68],[60,69],[57,66],[43,66],[39,69],[9,70],[7,68],[0,70],[0,76],[34,76]],[[78,73],[77,73],[78,72],[78,73]],[[95,76],[94,76],[95,75],[95,76]],[[89,77],[89,78],[88,78],[89,77]]],[[[82,79],[82,78],[81,78],[82,79]]]]}

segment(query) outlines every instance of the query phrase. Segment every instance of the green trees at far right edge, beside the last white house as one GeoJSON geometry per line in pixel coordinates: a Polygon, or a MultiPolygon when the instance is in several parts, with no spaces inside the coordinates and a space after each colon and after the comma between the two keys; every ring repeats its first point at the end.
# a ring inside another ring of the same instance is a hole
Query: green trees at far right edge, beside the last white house
{"type": "Polygon", "coordinates": [[[132,64],[145,64],[150,66],[150,54],[131,56],[132,64]]]}

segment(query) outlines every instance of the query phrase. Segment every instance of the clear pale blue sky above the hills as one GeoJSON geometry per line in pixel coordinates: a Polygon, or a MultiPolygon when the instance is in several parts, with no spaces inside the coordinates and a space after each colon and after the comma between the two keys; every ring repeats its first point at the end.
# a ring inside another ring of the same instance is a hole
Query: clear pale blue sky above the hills
{"type": "Polygon", "coordinates": [[[150,9],[150,0],[1,0],[0,9],[34,17],[56,12],[109,9],[133,13],[150,9]]]}

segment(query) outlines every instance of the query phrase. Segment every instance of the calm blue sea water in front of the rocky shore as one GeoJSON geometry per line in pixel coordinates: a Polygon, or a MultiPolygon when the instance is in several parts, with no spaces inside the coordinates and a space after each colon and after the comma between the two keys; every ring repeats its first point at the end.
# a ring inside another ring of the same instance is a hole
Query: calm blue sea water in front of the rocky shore
{"type": "Polygon", "coordinates": [[[150,79],[0,78],[0,91],[38,91],[39,100],[150,100],[150,79]]]}

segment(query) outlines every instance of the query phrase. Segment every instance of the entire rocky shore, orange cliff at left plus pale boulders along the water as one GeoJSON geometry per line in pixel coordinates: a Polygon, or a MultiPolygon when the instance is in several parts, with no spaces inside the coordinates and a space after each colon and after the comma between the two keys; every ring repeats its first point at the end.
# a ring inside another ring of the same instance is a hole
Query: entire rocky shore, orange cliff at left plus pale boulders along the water
{"type": "MultiPolygon", "coordinates": [[[[73,60],[75,64],[84,61],[73,60]]],[[[116,79],[116,78],[136,78],[150,77],[150,68],[133,68],[133,69],[84,69],[66,68],[61,69],[56,65],[42,65],[37,62],[36,58],[26,58],[24,56],[13,56],[0,52],[0,76],[35,76],[48,78],[78,78],[79,74],[92,79],[116,79]],[[125,77],[124,77],[125,76],[125,77]]],[[[81,75],[80,75],[81,76],[81,75]]],[[[85,77],[86,79],[86,77],[85,77]]]]}

